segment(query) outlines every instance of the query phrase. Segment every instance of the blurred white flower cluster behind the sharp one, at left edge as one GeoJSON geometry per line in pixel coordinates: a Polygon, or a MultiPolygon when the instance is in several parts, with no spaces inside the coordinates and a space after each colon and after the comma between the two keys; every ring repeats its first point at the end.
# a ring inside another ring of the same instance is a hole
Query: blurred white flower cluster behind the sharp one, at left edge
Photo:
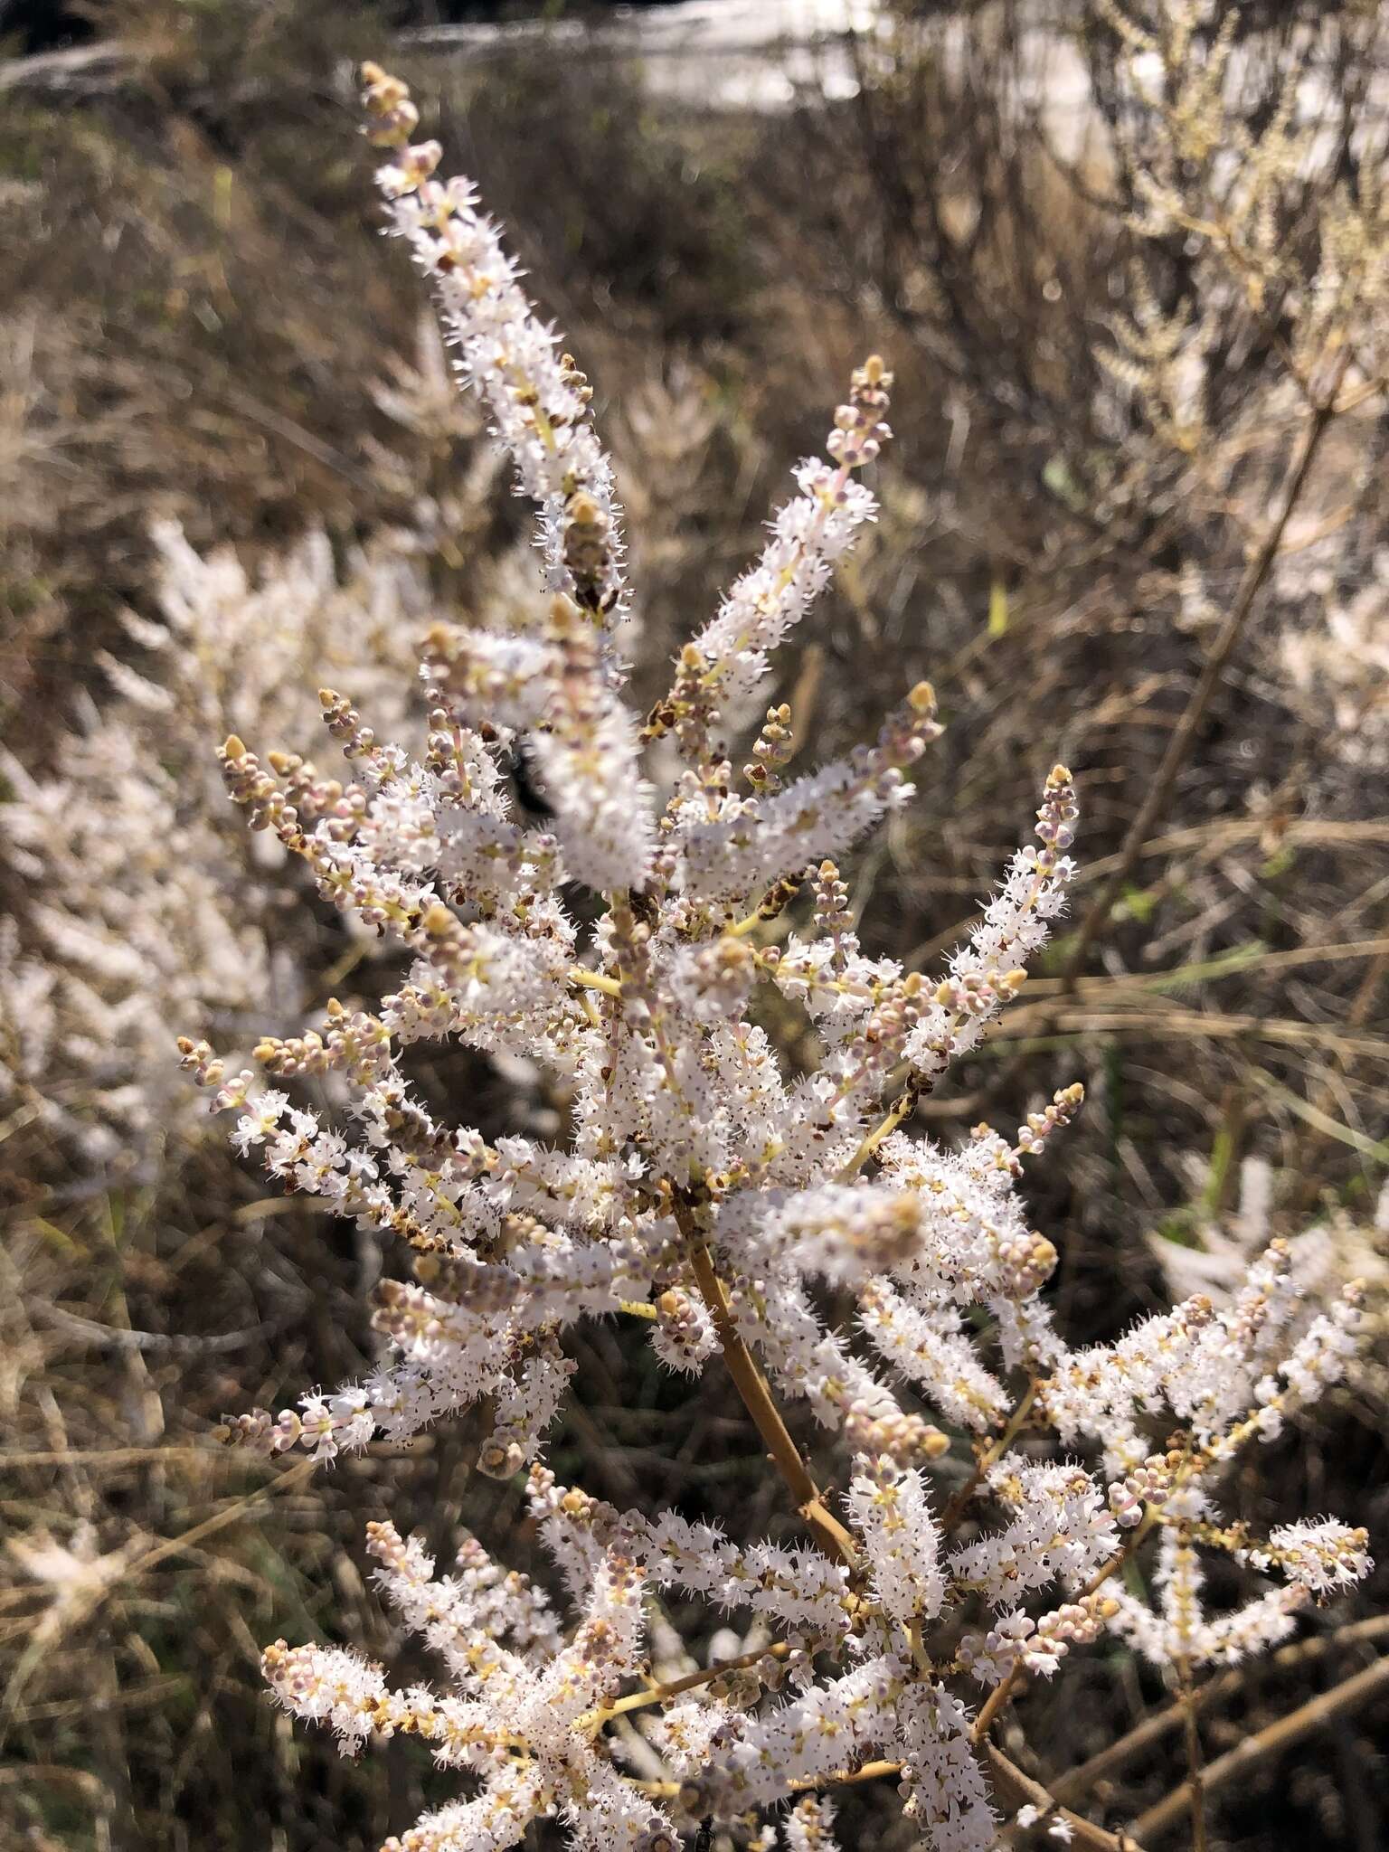
{"type": "Polygon", "coordinates": [[[124,619],[141,667],[100,656],[107,689],[50,776],[0,752],[0,863],[26,896],[0,922],[0,1115],[31,1113],[80,1176],[148,1180],[165,1141],[202,1132],[170,1019],[250,1048],[313,995],[304,935],[283,930],[285,856],[228,817],[209,737],[302,737],[315,670],[350,678],[393,733],[419,728],[428,593],[394,539],[339,572],[313,533],[259,576],[172,524],[154,541],[159,617],[124,619]]]}

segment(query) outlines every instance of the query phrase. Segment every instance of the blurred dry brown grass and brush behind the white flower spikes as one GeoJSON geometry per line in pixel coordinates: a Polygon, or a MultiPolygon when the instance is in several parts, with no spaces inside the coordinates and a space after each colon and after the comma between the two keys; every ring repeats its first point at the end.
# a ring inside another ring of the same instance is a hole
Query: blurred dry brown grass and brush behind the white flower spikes
{"type": "MultiPolygon", "coordinates": [[[[741,69],[761,61],[778,78],[748,106],[713,81],[672,83],[682,54],[643,56],[641,33],[606,9],[550,7],[543,28],[491,39],[439,31],[489,11],[0,11],[6,763],[61,782],[74,737],[109,709],[109,663],[150,672],[130,613],[159,613],[157,522],[180,522],[200,552],[230,544],[252,580],[322,537],[330,576],[346,582],[404,533],[443,613],[487,606],[496,561],[524,550],[507,483],[448,398],[415,280],[378,241],[352,81],[376,56],[411,81],[446,169],[480,181],[594,383],[641,585],[637,696],[663,685],[678,639],[756,548],[850,365],[882,350],[898,382],[882,522],[785,652],[776,698],[793,702],[798,750],[815,759],[863,737],[919,676],[939,689],[948,732],[924,798],[854,869],[870,948],[939,961],[1056,757],[1083,802],[1083,917],[1237,593],[1282,459],[1267,391],[1276,330],[1232,326],[1215,354],[1206,415],[1219,461],[1206,470],[1137,411],[1096,411],[1132,257],[1132,202],[1104,152],[1122,106],[1102,22],[1085,6],[1048,15],[1002,0],[863,9],[874,30],[813,54],[741,52],[741,69]],[[1067,104],[1085,120],[1061,154],[1037,106],[1037,61],[1054,52],[1056,81],[1085,83],[1083,104],[1067,104]]],[[[1383,72],[1363,63],[1369,11],[1246,7],[1250,120],[1269,107],[1265,63],[1296,35],[1339,98],[1359,85],[1382,109],[1383,72]]],[[[1300,202],[1287,224],[1309,252],[1317,207],[1300,202]]],[[[1185,257],[1180,244],[1159,256],[1170,309],[1189,289],[1185,257]]],[[[1365,1267],[1383,1267],[1383,1232],[1378,1250],[1363,1233],[1389,1159],[1382,420],[1370,406],[1322,452],[1285,559],[1093,941],[1063,937],[1004,1037],[920,1111],[924,1130],[954,1137],[980,1117],[1017,1124],[1039,1095],[1085,1080],[1082,1126],[1030,1180],[1080,1337],[1109,1335],[1196,1280],[1219,1285],[1250,1159],[1280,1232],[1354,1235],[1365,1267]]],[[[322,680],[311,648],[283,667],[309,694],[322,680]]],[[[206,767],[178,756],[174,720],[154,713],[148,726],[174,809],[215,802],[206,767]]],[[[13,769],[0,778],[2,811],[20,785],[13,769]]],[[[67,787],[56,830],[80,802],[67,787]]],[[[11,956],[59,967],[70,948],[54,943],[26,869],[0,863],[11,956]]],[[[289,1020],[344,982],[350,995],[387,982],[293,870],[257,880],[267,945],[300,941],[289,1020]]],[[[119,922],[119,869],[106,898],[119,922]]],[[[213,1011],[211,1026],[228,1022],[213,1011]]],[[[232,1039],[246,1026],[232,1022],[232,1039]]],[[[172,1043],[207,1022],[154,1028],[172,1043]]],[[[774,1030],[795,1061],[798,1026],[774,1030]]],[[[154,1087],[146,1069],[120,1067],[131,1035],[111,1019],[83,1072],[107,1063],[122,1087],[154,1087]]],[[[361,1369],[372,1335],[359,1287],[382,1258],[267,1200],[193,1107],[146,1113],[130,1139],[109,1076],[89,1095],[65,1069],[56,1119],[43,1080],[20,1061],[9,1072],[0,1843],[374,1846],[441,1798],[439,1776],[404,1741],[354,1767],[293,1732],[261,1698],[259,1646],[341,1626],[398,1663],[365,1578],[365,1520],[389,1509],[402,1532],[439,1541],[467,1522],[528,1567],[519,1493],[470,1472],[467,1420],[313,1478],[219,1452],[222,1411],[361,1369]],[[107,1120],[111,1137],[83,1137],[107,1120]]],[[[563,1126],[544,1076],[441,1059],[424,1083],[439,1100],[465,1093],[465,1117],[489,1135],[517,1115],[563,1126]]],[[[172,1096],[178,1078],[163,1085],[172,1096]]],[[[1378,1332],[1352,1382],[1245,1469],[1233,1502],[1246,1515],[1333,1508],[1387,1554],[1378,1332]]],[[[619,1506],[659,1493],[691,1517],[735,1508],[748,1533],[785,1524],[715,1372],[691,1393],[615,1332],[574,1343],[580,1400],[550,1450],[561,1478],[619,1506]]],[[[1309,1682],[1363,1665],[1383,1596],[1370,1585],[1352,1641],[1328,1637],[1320,1656],[1243,1682],[1211,1715],[1209,1754],[1291,1709],[1309,1682]]],[[[1070,1678],[1067,1706],[1022,1702],[1043,1774],[1161,1698],[1119,1646],[1070,1678]]],[[[1220,1796],[1219,1843],[1378,1852],[1385,1722],[1382,1696],[1332,1737],[1263,1759],[1220,1796]]],[[[1182,1772],[1165,1739],[1100,1804],[1122,1821],[1182,1772]]],[[[872,1791],[852,1806],[846,1845],[907,1843],[872,1791]]]]}

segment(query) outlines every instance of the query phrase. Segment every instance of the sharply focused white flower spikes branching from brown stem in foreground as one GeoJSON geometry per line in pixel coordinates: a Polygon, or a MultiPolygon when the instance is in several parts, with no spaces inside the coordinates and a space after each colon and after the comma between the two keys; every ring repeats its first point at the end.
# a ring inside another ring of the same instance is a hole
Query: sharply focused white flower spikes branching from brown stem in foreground
{"type": "Polygon", "coordinates": [[[515,635],[435,626],[420,757],[378,743],[332,691],[324,720],[352,782],[294,756],[263,761],[239,737],[224,746],[252,824],[411,957],[374,1013],[333,1002],[322,1028],[257,1048],[276,1080],[339,1076],[348,1130],[183,1043],[235,1111],[239,1148],[413,1250],[413,1278],[376,1289],[385,1352],[367,1382],[230,1432],[332,1458],[485,1400],[480,1463],[498,1476],[530,1463],[570,1619],[472,1541],[435,1582],[420,1545],[378,1524],[382,1587],[454,1691],[398,1693],[339,1648],[283,1643],[267,1676],[348,1748],[411,1732],[461,1772],[463,1798],[389,1841],[400,1852],[511,1846],[541,1817],[594,1852],[670,1852],[707,1819],[767,1848],[757,1811],[798,1796],[783,1819],[795,1852],[833,1843],[815,1791],[874,1772],[896,1776],[935,1852],[985,1852],[998,1832],[985,1769],[1006,1763],[987,1735],[1019,1680],[1054,1676],[1109,1626],[1161,1663],[1232,1659],[1369,1567],[1363,1532],[1322,1520],[1258,1543],[1215,1504],[1235,1448],[1345,1369],[1356,1291],[1296,1335],[1274,1243],[1222,1309],[1196,1296],[1117,1343],[1069,1348],[1043,1298],[1056,1248],[1028,1226],[1017,1183],[1080,1089],[1013,1139],[980,1126],[952,1150],[906,1126],[1017,995],[1063,906],[1070,774],[1046,778],[1037,846],[932,983],[863,954],[828,859],[904,802],[904,772],[937,732],[930,689],[874,746],[785,787],[785,709],[770,711],[745,789],[715,737],[869,513],[852,470],[885,437],[891,376],[878,361],[856,376],[833,463],[802,469],[767,556],[682,656],[648,724],[683,754],[657,809],[617,691],[615,511],[574,369],[554,359],[472,189],[437,185],[437,148],[407,144],[404,85],[374,67],[367,81],[374,139],[396,150],[383,176],[396,224],[441,280],[463,370],[539,504],[554,583],[548,611],[515,635]],[[520,746],[552,828],[504,802],[498,756],[520,746]],[[576,906],[565,883],[593,895],[576,906]],[[765,924],[802,887],[807,917],[770,943],[765,924]],[[809,1072],[783,1070],[759,1026],[757,1002],[778,995],[815,1024],[809,1072]],[[565,1143],[441,1124],[400,1050],[444,1037],[563,1076],[565,1143]],[[644,1322],[678,1370],[719,1356],[809,1541],[741,1545],[557,1485],[539,1456],[574,1369],[565,1332],[585,1317],[644,1322]],[[843,1498],[815,1483],[778,1398],[845,1446],[843,1498]],[[1154,1532],[1159,1611],[1119,1574],[1154,1532]],[[1208,1620],[1202,1550],[1282,1582],[1208,1620]],[[657,1682],[646,1628],[672,1589],[741,1611],[754,1643],[657,1682]]]}

